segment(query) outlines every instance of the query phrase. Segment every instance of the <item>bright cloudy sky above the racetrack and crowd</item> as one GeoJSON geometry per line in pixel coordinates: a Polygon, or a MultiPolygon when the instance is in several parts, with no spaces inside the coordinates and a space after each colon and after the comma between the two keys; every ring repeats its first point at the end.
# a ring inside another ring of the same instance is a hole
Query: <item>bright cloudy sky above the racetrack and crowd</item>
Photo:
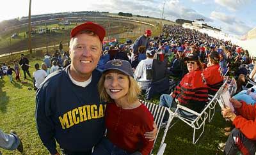
{"type": "MultiPolygon", "coordinates": [[[[0,21],[28,16],[29,0],[2,1],[0,21]]],[[[204,23],[228,34],[243,35],[256,27],[255,0],[32,0],[31,15],[65,11],[122,11],[161,18],[163,8],[165,19],[204,18],[204,23]]]]}

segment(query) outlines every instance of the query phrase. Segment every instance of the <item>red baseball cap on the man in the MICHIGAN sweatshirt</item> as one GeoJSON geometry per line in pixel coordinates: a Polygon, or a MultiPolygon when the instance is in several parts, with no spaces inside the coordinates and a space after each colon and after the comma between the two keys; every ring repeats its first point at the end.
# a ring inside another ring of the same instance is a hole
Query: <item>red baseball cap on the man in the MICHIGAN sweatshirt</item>
{"type": "Polygon", "coordinates": [[[93,22],[84,22],[83,24],[80,24],[79,26],[74,27],[70,32],[70,38],[73,38],[76,36],[77,33],[80,33],[81,31],[93,31],[93,33],[96,33],[97,36],[99,36],[100,41],[104,40],[104,36],[106,34],[106,31],[104,27],[95,24],[93,22]]]}

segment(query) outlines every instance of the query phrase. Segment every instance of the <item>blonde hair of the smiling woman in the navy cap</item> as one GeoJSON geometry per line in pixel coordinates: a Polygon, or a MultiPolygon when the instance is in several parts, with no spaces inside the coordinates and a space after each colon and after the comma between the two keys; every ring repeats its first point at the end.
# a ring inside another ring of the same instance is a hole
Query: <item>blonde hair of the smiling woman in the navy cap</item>
{"type": "MultiPolygon", "coordinates": [[[[104,87],[104,82],[105,82],[107,73],[109,73],[109,71],[107,71],[106,73],[103,73],[103,75],[100,78],[99,83],[98,83],[100,101],[106,101],[108,103],[110,103],[110,102],[113,103],[114,102],[113,99],[110,98],[110,96],[108,95],[108,93],[106,92],[106,89],[104,87]]],[[[138,100],[138,98],[141,94],[141,89],[140,89],[140,86],[138,85],[138,83],[136,82],[136,80],[134,80],[134,78],[132,78],[130,76],[128,76],[128,78],[129,78],[129,90],[127,92],[128,102],[134,103],[134,101],[138,100]]]]}

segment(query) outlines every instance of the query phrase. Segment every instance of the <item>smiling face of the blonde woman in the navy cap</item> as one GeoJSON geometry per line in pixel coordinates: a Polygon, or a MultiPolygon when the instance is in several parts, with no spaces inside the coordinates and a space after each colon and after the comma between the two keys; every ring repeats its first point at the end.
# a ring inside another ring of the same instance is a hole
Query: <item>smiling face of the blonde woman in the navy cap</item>
{"type": "Polygon", "coordinates": [[[114,101],[126,100],[129,91],[129,77],[120,71],[111,70],[106,74],[104,87],[114,101]]]}

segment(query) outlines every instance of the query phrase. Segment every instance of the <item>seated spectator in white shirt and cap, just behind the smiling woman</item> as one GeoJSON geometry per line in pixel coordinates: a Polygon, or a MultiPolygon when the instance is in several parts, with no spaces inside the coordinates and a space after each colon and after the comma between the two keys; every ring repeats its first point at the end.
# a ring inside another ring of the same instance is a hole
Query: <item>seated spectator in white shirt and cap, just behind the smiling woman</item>
{"type": "Polygon", "coordinates": [[[138,84],[140,85],[141,90],[147,90],[151,80],[152,80],[152,65],[153,60],[156,54],[156,50],[153,48],[149,48],[146,52],[147,59],[142,60],[136,70],[134,71],[134,75],[136,77],[136,80],[138,80],[138,84]]]}

